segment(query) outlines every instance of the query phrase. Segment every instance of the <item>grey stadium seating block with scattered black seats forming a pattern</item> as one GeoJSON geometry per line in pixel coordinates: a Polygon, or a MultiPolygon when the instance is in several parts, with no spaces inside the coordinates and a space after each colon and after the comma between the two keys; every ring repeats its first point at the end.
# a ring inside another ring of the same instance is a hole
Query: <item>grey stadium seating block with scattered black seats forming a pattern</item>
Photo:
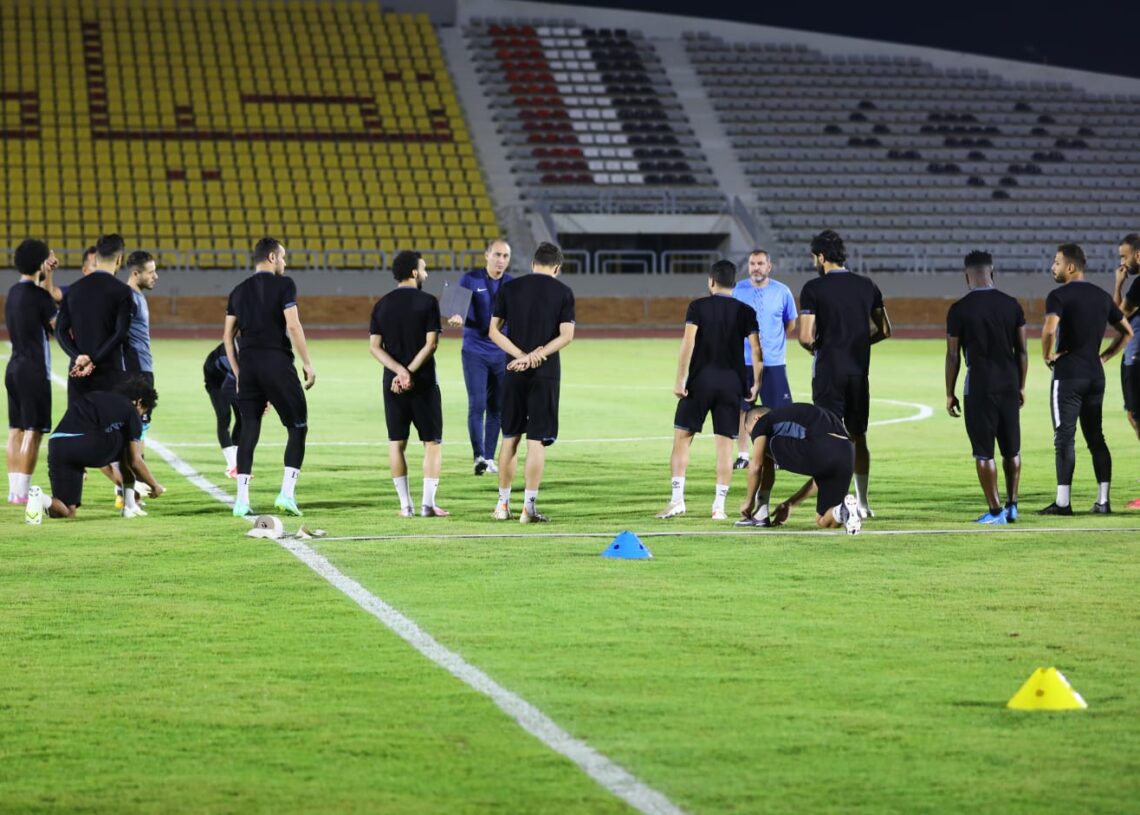
{"type": "Polygon", "coordinates": [[[1135,218],[1135,97],[708,34],[685,49],[795,261],[834,227],[863,270],[956,269],[976,246],[1040,270],[1061,241],[1115,248],[1135,218]]]}

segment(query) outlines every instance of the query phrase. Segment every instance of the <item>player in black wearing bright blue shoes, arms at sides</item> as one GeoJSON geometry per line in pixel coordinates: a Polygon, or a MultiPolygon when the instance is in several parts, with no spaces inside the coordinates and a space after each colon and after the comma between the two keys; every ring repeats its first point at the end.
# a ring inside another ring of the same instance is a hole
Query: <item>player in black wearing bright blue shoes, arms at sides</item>
{"type": "Polygon", "coordinates": [[[1017,488],[1021,478],[1021,418],[1029,353],[1025,345],[1025,312],[1013,298],[994,288],[994,262],[988,252],[966,255],[970,293],[946,313],[946,411],[961,416],[954,396],[961,356],[966,354],[966,434],[974,448],[978,482],[988,511],[978,523],[1017,520],[1017,488]],[[1005,474],[1005,505],[997,491],[994,438],[1005,474]]]}

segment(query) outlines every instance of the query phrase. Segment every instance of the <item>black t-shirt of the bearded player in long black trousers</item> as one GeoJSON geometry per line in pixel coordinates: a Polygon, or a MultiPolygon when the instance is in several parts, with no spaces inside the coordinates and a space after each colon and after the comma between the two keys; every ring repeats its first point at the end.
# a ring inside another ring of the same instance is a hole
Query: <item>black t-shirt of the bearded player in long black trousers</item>
{"type": "Polygon", "coordinates": [[[1045,298],[1045,316],[1057,315],[1057,353],[1054,380],[1102,380],[1100,345],[1105,326],[1115,325],[1124,315],[1112,296],[1088,280],[1073,280],[1059,286],[1045,298]]]}

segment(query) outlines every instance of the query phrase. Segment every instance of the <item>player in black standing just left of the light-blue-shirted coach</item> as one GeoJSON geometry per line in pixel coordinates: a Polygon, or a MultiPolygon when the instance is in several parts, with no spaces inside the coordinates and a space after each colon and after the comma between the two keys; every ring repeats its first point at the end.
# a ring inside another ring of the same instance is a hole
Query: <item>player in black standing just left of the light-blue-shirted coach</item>
{"type": "Polygon", "coordinates": [[[740,430],[740,404],[752,401],[760,389],[764,357],[757,336],[756,312],[732,296],[736,264],[718,260],[709,269],[709,296],[689,303],[685,333],[677,359],[674,394],[681,400],[673,418],[673,497],[658,517],[685,514],[685,471],[693,437],[711,411],[716,439],[716,494],[712,520],[726,521],[724,502],[732,481],[732,442],[740,430]],[[749,347],[748,376],[741,374],[740,343],[749,347]]]}

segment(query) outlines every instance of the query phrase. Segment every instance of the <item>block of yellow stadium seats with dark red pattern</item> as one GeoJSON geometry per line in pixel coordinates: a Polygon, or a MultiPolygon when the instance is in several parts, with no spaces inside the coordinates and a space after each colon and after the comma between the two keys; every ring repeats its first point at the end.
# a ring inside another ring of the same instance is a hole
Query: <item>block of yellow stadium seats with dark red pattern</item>
{"type": "Polygon", "coordinates": [[[499,233],[434,30],[378,3],[6,0],[0,190],[0,246],[114,229],[201,268],[499,233]]]}

